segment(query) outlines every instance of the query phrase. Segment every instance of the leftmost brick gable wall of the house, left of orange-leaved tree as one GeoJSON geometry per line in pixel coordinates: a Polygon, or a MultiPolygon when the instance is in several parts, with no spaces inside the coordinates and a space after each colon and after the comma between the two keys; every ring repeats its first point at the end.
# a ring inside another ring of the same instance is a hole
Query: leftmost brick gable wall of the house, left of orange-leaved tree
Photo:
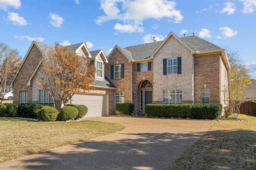
{"type": "Polygon", "coordinates": [[[20,91],[28,91],[28,103],[33,103],[32,101],[32,86],[27,86],[27,82],[38,65],[40,59],[42,58],[42,54],[39,49],[34,45],[28,54],[25,64],[19,71],[18,76],[14,82],[13,87],[13,103],[20,103],[20,91]]]}

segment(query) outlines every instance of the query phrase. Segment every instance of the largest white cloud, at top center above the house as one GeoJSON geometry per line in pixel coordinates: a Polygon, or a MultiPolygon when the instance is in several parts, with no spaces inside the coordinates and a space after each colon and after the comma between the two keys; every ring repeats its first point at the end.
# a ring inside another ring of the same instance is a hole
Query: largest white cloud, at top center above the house
{"type": "MultiPolygon", "coordinates": [[[[167,18],[174,19],[175,23],[179,23],[182,21],[183,16],[179,10],[175,9],[175,5],[176,5],[175,2],[173,1],[170,2],[166,0],[165,1],[102,0],[101,9],[104,10],[105,15],[98,16],[95,22],[98,25],[101,25],[102,23],[107,22],[109,20],[120,20],[120,21],[123,21],[123,24],[122,24],[123,26],[132,25],[133,27],[139,28],[138,26],[143,25],[143,20],[145,19],[154,18],[159,20],[163,17],[167,17],[167,18]]],[[[142,29],[143,31],[144,28],[140,27],[139,29],[142,29]]],[[[127,31],[123,31],[123,32],[127,32],[127,31]]],[[[141,31],[137,30],[135,32],[141,32],[141,31]]]]}

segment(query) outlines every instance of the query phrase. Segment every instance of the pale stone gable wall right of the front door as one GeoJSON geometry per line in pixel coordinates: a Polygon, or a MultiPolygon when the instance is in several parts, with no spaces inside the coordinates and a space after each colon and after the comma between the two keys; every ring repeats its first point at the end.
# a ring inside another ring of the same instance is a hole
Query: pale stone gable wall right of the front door
{"type": "Polygon", "coordinates": [[[163,89],[182,89],[184,103],[194,100],[194,60],[190,50],[176,38],[169,39],[154,55],[154,103],[162,103],[163,89]],[[182,58],[182,74],[163,75],[164,58],[182,58]]]}

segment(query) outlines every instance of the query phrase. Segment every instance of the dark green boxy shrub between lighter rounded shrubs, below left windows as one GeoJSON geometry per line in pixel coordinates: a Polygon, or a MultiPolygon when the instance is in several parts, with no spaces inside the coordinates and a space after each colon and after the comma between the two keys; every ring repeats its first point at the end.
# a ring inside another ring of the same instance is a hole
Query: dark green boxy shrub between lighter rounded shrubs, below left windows
{"type": "Polygon", "coordinates": [[[18,116],[28,117],[28,118],[37,118],[36,113],[33,109],[36,106],[41,106],[41,104],[18,104],[18,116]]]}

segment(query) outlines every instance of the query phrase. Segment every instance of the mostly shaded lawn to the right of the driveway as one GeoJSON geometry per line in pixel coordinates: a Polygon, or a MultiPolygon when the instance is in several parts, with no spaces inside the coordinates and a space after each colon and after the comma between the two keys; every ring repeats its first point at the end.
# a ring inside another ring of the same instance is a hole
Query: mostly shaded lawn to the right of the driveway
{"type": "Polygon", "coordinates": [[[255,169],[256,117],[219,120],[168,169],[255,169]]]}

